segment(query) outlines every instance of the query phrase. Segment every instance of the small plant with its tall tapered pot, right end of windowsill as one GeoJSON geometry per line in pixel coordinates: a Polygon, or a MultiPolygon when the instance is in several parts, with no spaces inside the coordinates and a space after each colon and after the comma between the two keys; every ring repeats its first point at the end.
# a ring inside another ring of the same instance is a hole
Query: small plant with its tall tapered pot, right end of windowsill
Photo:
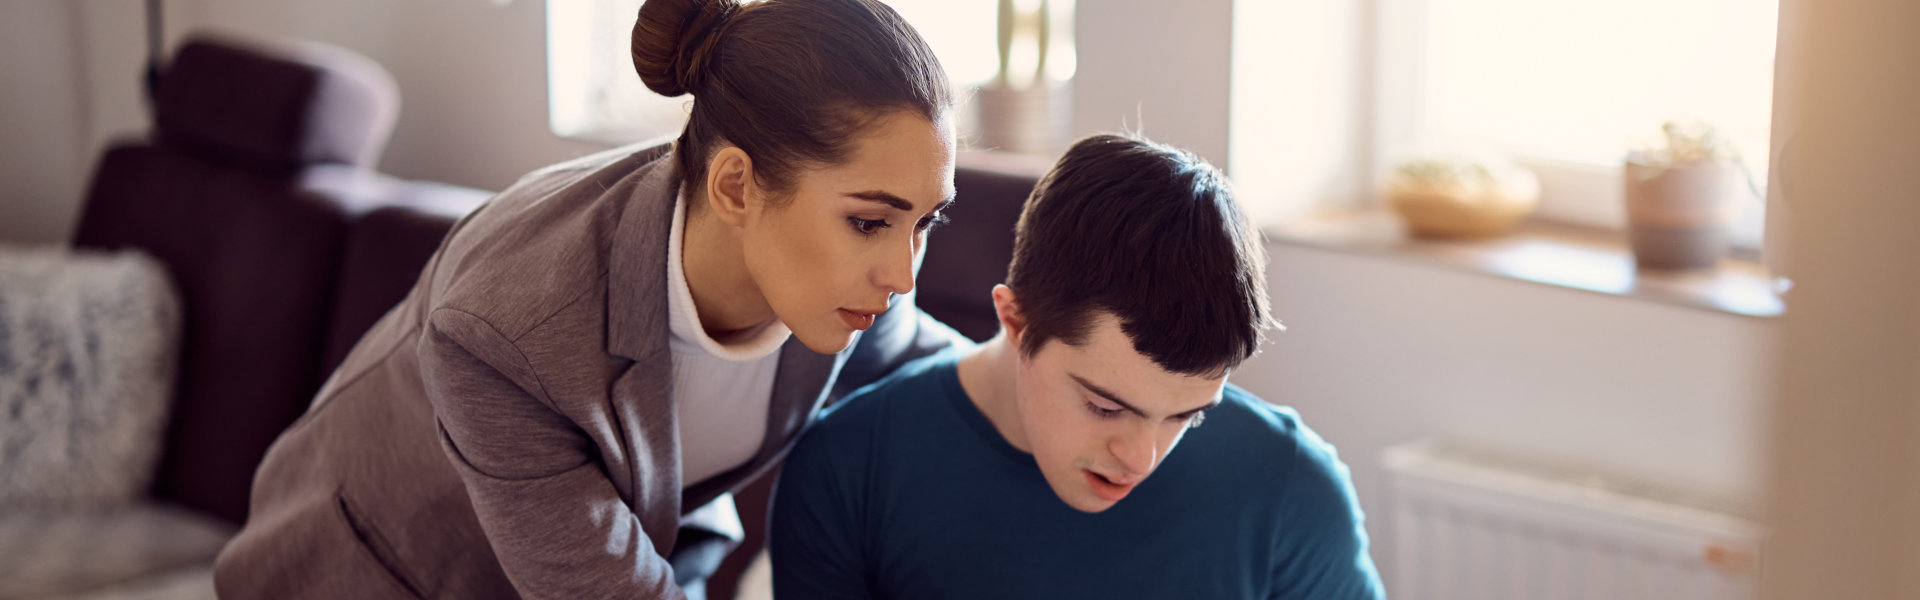
{"type": "Polygon", "coordinates": [[[1707,123],[1665,123],[1661,142],[1628,152],[1626,231],[1634,262],[1649,269],[1713,267],[1726,227],[1749,188],[1734,144],[1707,123]]]}

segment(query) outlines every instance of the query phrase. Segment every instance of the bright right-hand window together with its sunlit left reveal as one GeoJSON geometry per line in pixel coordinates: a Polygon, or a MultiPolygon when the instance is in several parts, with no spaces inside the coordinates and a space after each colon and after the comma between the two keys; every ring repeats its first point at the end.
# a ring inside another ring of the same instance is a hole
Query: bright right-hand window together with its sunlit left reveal
{"type": "MultiPolygon", "coordinates": [[[[1267,4],[1235,6],[1233,165],[1252,202],[1373,198],[1409,150],[1496,150],[1540,175],[1542,217],[1624,227],[1620,160],[1695,119],[1766,175],[1778,0],[1267,4]]],[[[1734,240],[1757,246],[1763,200],[1747,208],[1734,240]]]]}

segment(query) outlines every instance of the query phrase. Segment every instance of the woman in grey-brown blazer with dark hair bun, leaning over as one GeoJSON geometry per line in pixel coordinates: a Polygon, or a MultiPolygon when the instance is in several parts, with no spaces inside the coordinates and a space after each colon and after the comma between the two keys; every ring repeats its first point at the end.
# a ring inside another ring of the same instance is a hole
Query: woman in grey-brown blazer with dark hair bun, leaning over
{"type": "Polygon", "coordinates": [[[958,338],[902,300],[954,135],[897,13],[649,0],[634,67],[693,94],[680,138],[455,225],[269,450],[221,598],[685,598],[695,508],[732,517],[831,390],[958,338]]]}

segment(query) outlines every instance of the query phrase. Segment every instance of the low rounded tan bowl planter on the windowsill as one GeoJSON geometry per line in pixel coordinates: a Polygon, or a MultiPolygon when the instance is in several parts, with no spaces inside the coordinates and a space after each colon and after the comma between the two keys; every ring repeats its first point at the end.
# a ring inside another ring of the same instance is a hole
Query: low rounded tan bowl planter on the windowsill
{"type": "Polygon", "coordinates": [[[1503,160],[1419,156],[1394,165],[1386,204],[1415,237],[1498,237],[1540,206],[1540,179],[1503,160]]]}

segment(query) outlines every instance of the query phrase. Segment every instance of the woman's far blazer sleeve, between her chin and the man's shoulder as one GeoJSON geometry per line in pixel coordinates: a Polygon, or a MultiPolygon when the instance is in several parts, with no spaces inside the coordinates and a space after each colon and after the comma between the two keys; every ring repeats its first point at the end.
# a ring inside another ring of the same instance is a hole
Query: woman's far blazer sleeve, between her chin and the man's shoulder
{"type": "Polygon", "coordinates": [[[920,292],[900,296],[885,313],[874,319],[874,327],[854,340],[847,365],[833,381],[831,400],[845,398],[868,383],[887,377],[904,363],[937,354],[954,344],[972,344],[947,323],[920,312],[914,298],[920,292]]]}

